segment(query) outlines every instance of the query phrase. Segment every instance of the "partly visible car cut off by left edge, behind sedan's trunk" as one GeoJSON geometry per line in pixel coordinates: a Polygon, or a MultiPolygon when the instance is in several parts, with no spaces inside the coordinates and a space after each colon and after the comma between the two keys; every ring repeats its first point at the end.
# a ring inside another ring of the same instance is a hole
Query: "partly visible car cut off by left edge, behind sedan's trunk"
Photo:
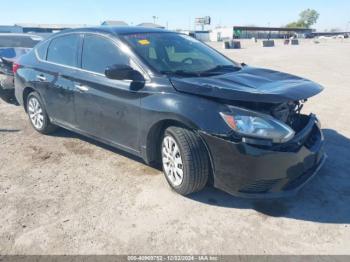
{"type": "Polygon", "coordinates": [[[41,36],[29,34],[0,34],[0,92],[5,100],[14,95],[13,62],[42,39],[41,36]]]}

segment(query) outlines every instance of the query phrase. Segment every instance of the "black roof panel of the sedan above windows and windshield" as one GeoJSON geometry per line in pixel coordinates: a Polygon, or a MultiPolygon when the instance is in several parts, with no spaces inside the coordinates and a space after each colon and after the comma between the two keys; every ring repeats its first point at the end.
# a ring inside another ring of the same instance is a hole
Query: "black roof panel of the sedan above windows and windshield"
{"type": "Polygon", "coordinates": [[[108,33],[114,35],[124,34],[140,34],[140,33],[174,33],[160,28],[150,28],[142,26],[98,26],[98,27],[82,27],[63,30],[55,35],[65,34],[69,32],[94,32],[94,33],[108,33]]]}

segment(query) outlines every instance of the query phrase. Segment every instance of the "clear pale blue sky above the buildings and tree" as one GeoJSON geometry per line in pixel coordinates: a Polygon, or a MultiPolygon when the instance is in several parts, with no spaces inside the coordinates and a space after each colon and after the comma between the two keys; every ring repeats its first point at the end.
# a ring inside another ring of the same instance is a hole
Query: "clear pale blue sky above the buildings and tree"
{"type": "Polygon", "coordinates": [[[350,30],[350,0],[2,0],[0,25],[15,23],[99,25],[123,20],[153,22],[169,29],[194,29],[196,17],[211,16],[212,25],[284,26],[299,13],[315,9],[319,31],[350,30]]]}

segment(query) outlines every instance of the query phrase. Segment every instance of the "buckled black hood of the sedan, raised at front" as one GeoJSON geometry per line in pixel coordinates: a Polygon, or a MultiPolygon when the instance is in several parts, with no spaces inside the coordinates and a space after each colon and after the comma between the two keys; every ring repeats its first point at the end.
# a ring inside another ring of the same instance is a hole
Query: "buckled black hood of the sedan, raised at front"
{"type": "Polygon", "coordinates": [[[179,92],[228,100],[283,103],[304,100],[323,87],[294,75],[244,66],[241,70],[211,77],[170,77],[179,92]]]}

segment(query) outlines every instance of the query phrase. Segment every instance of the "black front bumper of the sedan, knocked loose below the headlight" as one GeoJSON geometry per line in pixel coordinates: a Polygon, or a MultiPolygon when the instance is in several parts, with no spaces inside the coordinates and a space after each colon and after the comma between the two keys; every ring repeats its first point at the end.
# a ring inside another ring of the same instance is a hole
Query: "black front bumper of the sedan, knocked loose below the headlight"
{"type": "Polygon", "coordinates": [[[263,147],[201,132],[212,162],[214,186],[248,198],[296,194],[326,160],[324,137],[314,115],[286,144],[263,147]]]}

